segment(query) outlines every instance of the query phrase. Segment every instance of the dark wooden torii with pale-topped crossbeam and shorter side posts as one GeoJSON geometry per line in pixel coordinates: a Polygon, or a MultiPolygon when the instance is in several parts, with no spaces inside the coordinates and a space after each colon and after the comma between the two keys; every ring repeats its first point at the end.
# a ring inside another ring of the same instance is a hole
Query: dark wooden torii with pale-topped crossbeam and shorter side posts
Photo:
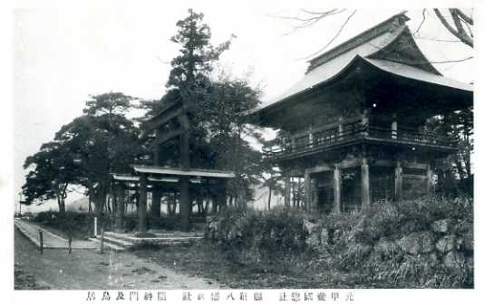
{"type": "MultiPolygon", "coordinates": [[[[141,122],[141,137],[145,137],[155,131],[154,165],[132,165],[138,178],[133,181],[139,182],[140,198],[138,206],[139,231],[146,232],[146,207],[148,183],[154,183],[152,188],[153,207],[160,213],[160,190],[157,185],[173,185],[179,189],[179,213],[181,216],[181,229],[189,231],[189,215],[191,213],[192,198],[190,196],[190,180],[200,180],[201,186],[206,186],[217,193],[217,205],[226,206],[227,179],[235,177],[233,172],[200,169],[190,167],[189,144],[190,144],[190,120],[188,116],[189,104],[184,100],[176,100],[169,103],[165,108],[152,117],[141,122]],[[167,123],[178,122],[177,129],[166,129],[167,123]],[[170,139],[179,137],[180,167],[162,167],[160,165],[160,146],[170,139]],[[170,182],[163,180],[169,179],[170,182]],[[175,180],[175,182],[173,182],[175,180]]],[[[113,177],[116,181],[116,177],[113,177]]]]}

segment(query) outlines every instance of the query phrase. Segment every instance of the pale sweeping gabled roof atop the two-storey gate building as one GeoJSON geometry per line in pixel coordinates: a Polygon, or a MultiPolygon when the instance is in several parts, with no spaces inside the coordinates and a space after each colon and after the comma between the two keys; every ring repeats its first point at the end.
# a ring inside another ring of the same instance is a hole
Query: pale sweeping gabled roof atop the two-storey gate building
{"type": "Polygon", "coordinates": [[[303,79],[297,81],[276,99],[267,100],[251,112],[264,110],[300,93],[311,91],[316,86],[323,86],[324,82],[330,81],[344,72],[356,58],[363,58],[364,61],[370,62],[384,72],[472,91],[471,85],[440,75],[440,72],[431,65],[431,62],[425,58],[413,41],[409,28],[404,24],[407,20],[409,19],[404,13],[393,15],[381,24],[336,46],[327,53],[317,56],[309,61],[310,66],[303,79]],[[394,54],[395,46],[403,47],[398,50],[399,54],[394,54]],[[397,56],[401,57],[398,62],[395,60],[397,56]]]}

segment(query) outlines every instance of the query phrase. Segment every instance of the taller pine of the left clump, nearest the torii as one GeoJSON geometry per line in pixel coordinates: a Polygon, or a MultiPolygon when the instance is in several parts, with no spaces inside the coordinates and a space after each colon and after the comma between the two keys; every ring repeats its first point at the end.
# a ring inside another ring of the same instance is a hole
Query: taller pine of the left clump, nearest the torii
{"type": "Polygon", "coordinates": [[[146,148],[140,131],[126,118],[132,98],[121,92],[92,96],[85,115],[64,125],[55,139],[75,152],[80,165],[78,184],[85,186],[101,212],[109,191],[111,173],[129,173],[130,164],[142,158],[146,148]]]}

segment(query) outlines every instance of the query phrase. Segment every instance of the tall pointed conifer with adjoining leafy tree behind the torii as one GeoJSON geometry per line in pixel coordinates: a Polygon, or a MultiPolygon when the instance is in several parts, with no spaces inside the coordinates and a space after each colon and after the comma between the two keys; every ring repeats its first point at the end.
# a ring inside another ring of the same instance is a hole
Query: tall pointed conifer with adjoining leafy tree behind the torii
{"type": "MultiPolygon", "coordinates": [[[[171,41],[180,48],[171,61],[168,91],[160,100],[141,104],[148,110],[147,115],[156,115],[171,104],[182,104],[190,123],[190,167],[233,170],[236,178],[229,182],[227,194],[238,204],[245,204],[252,197],[250,186],[258,182],[262,156],[246,140],[257,140],[260,135],[256,127],[245,123],[244,114],[258,105],[260,91],[245,80],[211,74],[230,41],[211,44],[210,28],[203,18],[203,14],[190,9],[189,15],[177,23],[178,32],[171,41]]],[[[180,120],[170,120],[161,128],[187,129],[180,120]]],[[[178,141],[167,141],[160,152],[161,164],[180,163],[178,141]]]]}

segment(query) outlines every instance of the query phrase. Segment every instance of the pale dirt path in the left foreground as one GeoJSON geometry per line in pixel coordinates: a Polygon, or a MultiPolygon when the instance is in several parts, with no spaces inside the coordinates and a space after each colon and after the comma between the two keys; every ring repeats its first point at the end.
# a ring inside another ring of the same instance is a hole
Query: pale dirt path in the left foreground
{"type": "Polygon", "coordinates": [[[132,253],[38,248],[15,229],[15,264],[54,290],[211,289],[218,282],[190,277],[132,253]]]}

